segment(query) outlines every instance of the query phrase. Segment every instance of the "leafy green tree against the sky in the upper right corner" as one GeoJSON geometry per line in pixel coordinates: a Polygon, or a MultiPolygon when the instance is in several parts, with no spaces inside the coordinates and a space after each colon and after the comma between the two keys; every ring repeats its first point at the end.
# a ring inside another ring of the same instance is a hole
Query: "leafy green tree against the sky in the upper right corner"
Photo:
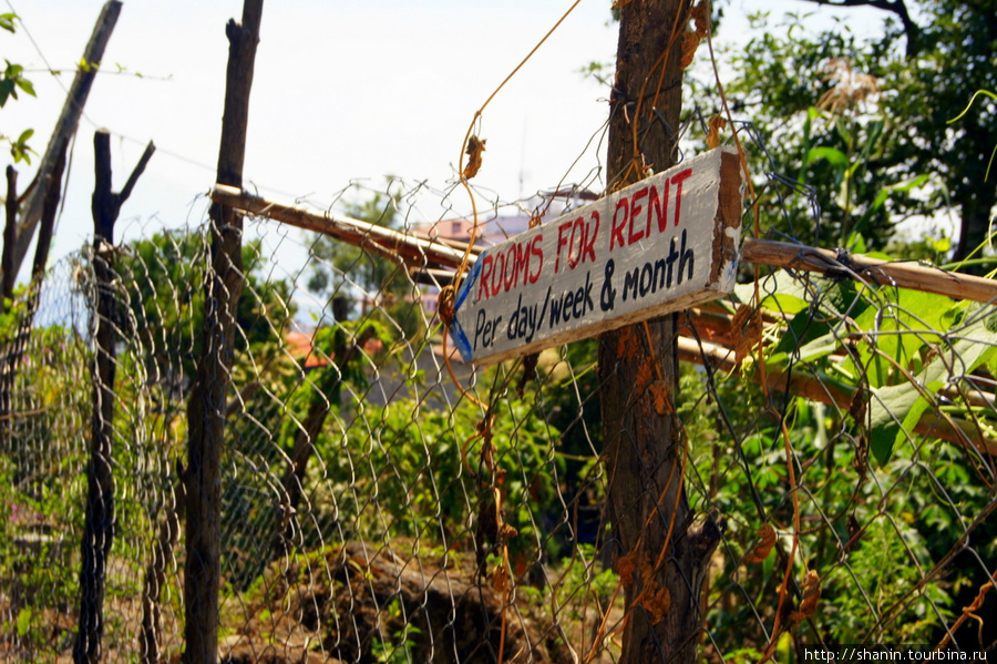
{"type": "Polygon", "coordinates": [[[814,33],[799,14],[774,25],[757,14],[756,35],[727,54],[737,72],[727,86],[734,112],[750,110],[767,147],[750,155],[753,171],[812,187],[823,208],[816,232],[809,201],[782,202],[785,191],[773,190],[785,208],[774,231],[824,246],[852,246],[861,235],[876,251],[911,216],[952,215],[960,221],[957,258],[986,238],[997,201],[985,183],[997,124],[983,113],[947,121],[976,91],[997,89],[993,8],[923,0],[911,12],[918,27],[887,20],[882,35],[866,40],[847,20],[814,33]]]}

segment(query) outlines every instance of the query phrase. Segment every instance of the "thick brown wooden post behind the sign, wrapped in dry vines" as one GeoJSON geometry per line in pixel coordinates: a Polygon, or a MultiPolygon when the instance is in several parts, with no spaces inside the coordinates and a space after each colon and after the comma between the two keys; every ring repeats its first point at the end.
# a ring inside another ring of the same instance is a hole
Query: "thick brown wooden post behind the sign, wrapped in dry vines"
{"type": "MultiPolygon", "coordinates": [[[[621,4],[607,168],[614,190],[645,168],[675,164],[686,24],[680,0],[621,4]]],[[[669,315],[599,337],[607,545],[625,590],[626,664],[696,661],[702,572],[719,541],[711,521],[692,522],[686,499],[676,327],[669,315]]]]}

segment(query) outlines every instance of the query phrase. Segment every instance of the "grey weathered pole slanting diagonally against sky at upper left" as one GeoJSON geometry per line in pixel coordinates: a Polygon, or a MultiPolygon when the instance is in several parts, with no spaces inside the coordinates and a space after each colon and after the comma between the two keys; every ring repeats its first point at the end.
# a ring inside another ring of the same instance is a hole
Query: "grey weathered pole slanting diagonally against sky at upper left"
{"type": "MultiPolygon", "coordinates": [[[[86,48],[83,50],[83,62],[86,63],[86,67],[81,68],[73,79],[65,104],[62,106],[62,112],[55,122],[55,129],[52,131],[52,137],[49,139],[49,145],[39,163],[38,175],[35,176],[37,186],[24,202],[24,210],[18,224],[17,244],[13,248],[13,264],[10,269],[13,274],[12,278],[17,278],[21,264],[28,255],[28,247],[31,245],[34,227],[41,218],[48,187],[53,186],[52,182],[58,187],[62,181],[61,177],[58,180],[50,178],[50,175],[54,171],[60,152],[64,152],[64,146],[69,143],[70,136],[76,131],[80,115],[83,114],[83,106],[86,104],[86,98],[90,95],[90,89],[93,88],[93,81],[96,79],[96,65],[104,58],[104,49],[106,49],[107,42],[111,40],[111,33],[114,31],[120,13],[121,2],[119,0],[107,0],[101,9],[101,14],[93,27],[90,41],[86,42],[86,48]]],[[[7,270],[8,266],[4,265],[3,269],[7,270]]],[[[7,278],[6,272],[3,278],[7,278]]]]}

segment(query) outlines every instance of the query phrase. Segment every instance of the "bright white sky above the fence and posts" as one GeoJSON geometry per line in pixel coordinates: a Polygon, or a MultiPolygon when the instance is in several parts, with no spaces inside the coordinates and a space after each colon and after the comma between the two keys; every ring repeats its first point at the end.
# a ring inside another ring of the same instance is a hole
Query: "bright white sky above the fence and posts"
{"type": "MultiPolygon", "coordinates": [[[[2,57],[44,70],[30,32],[53,69],[72,70],[102,4],[4,0],[0,11],[19,13],[27,30],[0,34],[2,57]]],[[[380,186],[389,173],[445,188],[475,110],[569,4],[269,0],[256,58],[246,185],[270,197],[307,197],[319,206],[331,204],[351,181],[380,186]]],[[[733,0],[721,30],[743,38],[739,17],[759,4],[761,0],[733,0]]],[[[763,4],[773,16],[830,13],[791,0],[763,4]]],[[[480,134],[487,151],[476,185],[512,201],[562,181],[584,181],[597,167],[599,145],[586,145],[606,120],[606,91],[578,70],[592,60],[613,59],[616,25],[609,24],[608,6],[608,0],[584,0],[486,109],[480,134]]],[[[115,188],[124,184],[145,143],[152,140],[157,146],[119,227],[140,219],[134,226],[151,233],[158,224],[201,218],[203,201],[193,208],[192,202],[214,182],[228,53],[224,29],[240,14],[240,0],[124,2],[104,70],[120,64],[141,78],[102,74],[94,84],[72,156],[54,257],[91,237],[92,144],[101,126],[115,137],[115,188]]],[[[721,32],[719,39],[723,37],[721,32]]],[[[72,74],[28,75],[38,99],[9,101],[0,111],[0,133],[17,135],[33,127],[32,145],[41,153],[72,74]]],[[[21,163],[18,170],[23,187],[34,164],[21,163]]]]}

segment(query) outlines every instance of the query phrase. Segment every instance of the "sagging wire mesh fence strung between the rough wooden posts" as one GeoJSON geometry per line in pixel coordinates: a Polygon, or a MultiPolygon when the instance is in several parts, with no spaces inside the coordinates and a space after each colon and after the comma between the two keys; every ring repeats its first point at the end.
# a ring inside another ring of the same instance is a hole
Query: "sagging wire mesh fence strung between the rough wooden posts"
{"type": "MultiPolygon", "coordinates": [[[[463,246],[473,224],[426,193],[394,183],[342,204],[463,246]]],[[[565,203],[580,204],[541,207],[565,203]]],[[[532,216],[495,213],[482,226],[493,238],[532,216]]],[[[184,650],[184,497],[198,481],[187,408],[209,234],[126,235],[110,286],[102,651],[171,662],[184,650]]],[[[19,334],[30,307],[2,319],[3,661],[70,661],[79,632],[94,262],[83,252],[50,272],[30,334],[19,334]]],[[[598,339],[473,368],[446,343],[439,270],[265,218],[247,222],[244,263],[232,388],[213,405],[225,416],[223,661],[615,662],[638,614],[669,612],[695,616],[683,637],[711,662],[804,661],[806,646],[840,644],[995,647],[989,305],[875,286],[840,254],[830,276],[742,266],[730,298],[676,316],[678,389],[658,395],[646,374],[634,394],[675,422],[681,462],[637,493],[660,501],[681,484],[689,520],[652,514],[647,529],[680,546],[708,527],[717,546],[685,580],[702,589],[688,605],[648,591],[628,612],[627,592],[650,588],[643,575],[672,565],[672,549],[654,570],[635,566],[606,515],[620,480],[598,339]]],[[[609,350],[671,350],[650,339],[636,326],[609,350]]]]}

